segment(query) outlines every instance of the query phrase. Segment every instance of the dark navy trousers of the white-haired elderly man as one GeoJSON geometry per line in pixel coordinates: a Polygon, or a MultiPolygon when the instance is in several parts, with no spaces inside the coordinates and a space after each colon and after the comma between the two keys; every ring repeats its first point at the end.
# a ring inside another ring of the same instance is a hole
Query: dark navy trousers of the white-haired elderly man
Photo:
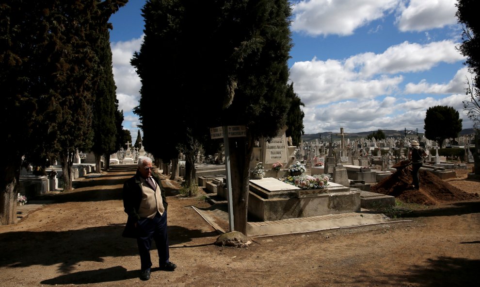
{"type": "Polygon", "coordinates": [[[150,259],[150,246],[152,245],[152,238],[155,240],[159,253],[159,261],[161,264],[169,262],[170,254],[168,251],[168,236],[167,236],[167,211],[157,212],[153,219],[141,218],[138,220],[139,236],[137,237],[138,250],[140,253],[140,262],[142,270],[147,270],[152,267],[150,259]]]}

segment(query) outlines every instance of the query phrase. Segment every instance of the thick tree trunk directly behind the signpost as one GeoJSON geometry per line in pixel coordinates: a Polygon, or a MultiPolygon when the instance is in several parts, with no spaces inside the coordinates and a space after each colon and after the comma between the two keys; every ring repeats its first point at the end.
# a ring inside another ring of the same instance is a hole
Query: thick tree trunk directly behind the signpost
{"type": "MultiPolygon", "coordinates": [[[[229,138],[230,168],[232,177],[232,205],[235,231],[247,235],[247,208],[249,191],[250,157],[253,139],[247,137],[229,138]]],[[[226,158],[225,154],[225,158],[226,158]]],[[[230,184],[230,183],[228,183],[230,184]]]]}

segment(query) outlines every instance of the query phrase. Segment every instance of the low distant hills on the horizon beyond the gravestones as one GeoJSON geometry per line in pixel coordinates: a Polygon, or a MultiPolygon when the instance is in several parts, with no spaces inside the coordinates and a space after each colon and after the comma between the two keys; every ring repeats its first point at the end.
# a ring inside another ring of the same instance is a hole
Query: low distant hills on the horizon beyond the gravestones
{"type": "MultiPolygon", "coordinates": [[[[396,131],[396,130],[382,130],[385,133],[386,137],[399,137],[399,136],[405,136],[405,130],[402,131],[396,131]]],[[[357,138],[357,137],[367,137],[367,135],[376,132],[376,131],[369,131],[369,132],[359,132],[359,133],[347,133],[345,132],[345,138],[357,138]]],[[[411,131],[407,130],[407,137],[416,137],[416,131],[411,131]]],[[[305,134],[302,135],[302,139],[304,141],[312,141],[318,138],[319,140],[323,141],[330,141],[330,135],[333,135],[334,140],[338,140],[340,136],[338,135],[339,132],[334,133],[334,132],[323,132],[323,133],[317,133],[317,134],[305,134]]],[[[473,135],[475,134],[474,129],[464,129],[462,130],[459,135],[473,135]]],[[[418,136],[422,137],[424,134],[423,133],[418,133],[418,136]]]]}

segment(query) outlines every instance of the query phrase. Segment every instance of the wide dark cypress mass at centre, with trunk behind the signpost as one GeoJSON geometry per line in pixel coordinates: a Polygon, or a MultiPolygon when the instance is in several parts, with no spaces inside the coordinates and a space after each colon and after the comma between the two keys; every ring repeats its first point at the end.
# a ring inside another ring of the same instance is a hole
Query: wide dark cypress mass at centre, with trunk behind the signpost
{"type": "Polygon", "coordinates": [[[176,160],[176,147],[202,140],[209,127],[245,125],[246,138],[229,140],[235,229],[245,233],[254,139],[275,136],[290,103],[288,1],[149,0],[142,11],[144,43],[131,63],[142,81],[135,113],[145,149],[176,160]],[[191,117],[206,99],[210,111],[191,117]],[[175,118],[168,138],[159,117],[175,118]]]}

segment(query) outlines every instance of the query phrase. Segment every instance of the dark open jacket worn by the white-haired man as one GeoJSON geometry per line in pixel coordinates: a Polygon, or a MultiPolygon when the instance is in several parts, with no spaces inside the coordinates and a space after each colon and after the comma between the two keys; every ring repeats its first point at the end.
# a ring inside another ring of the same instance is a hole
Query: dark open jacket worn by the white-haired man
{"type": "MultiPolygon", "coordinates": [[[[163,202],[163,208],[167,211],[167,199],[165,192],[160,184],[158,176],[152,173],[152,178],[160,187],[161,199],[163,202]]],[[[122,234],[124,237],[137,238],[137,232],[135,223],[140,219],[138,210],[140,209],[140,203],[142,202],[142,182],[140,181],[140,173],[137,171],[135,176],[129,178],[123,185],[123,207],[124,211],[128,214],[127,225],[122,234]]]]}

